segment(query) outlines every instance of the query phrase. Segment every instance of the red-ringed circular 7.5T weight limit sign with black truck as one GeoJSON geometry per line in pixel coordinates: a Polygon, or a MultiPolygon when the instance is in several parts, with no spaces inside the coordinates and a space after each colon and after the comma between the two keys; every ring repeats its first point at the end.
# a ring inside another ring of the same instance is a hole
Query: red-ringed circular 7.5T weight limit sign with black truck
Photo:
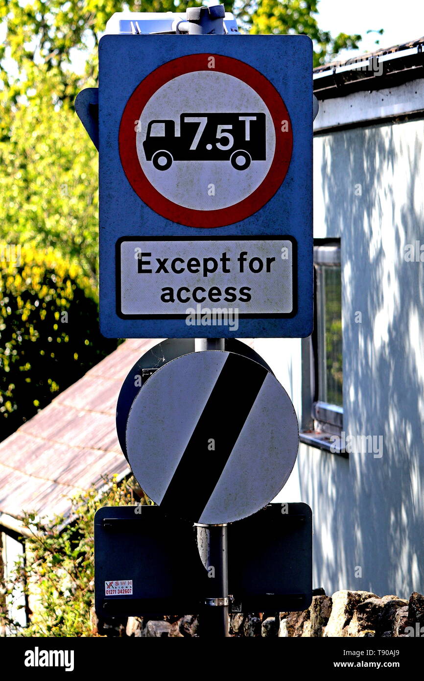
{"type": "Polygon", "coordinates": [[[220,54],[190,54],[149,74],[119,129],[134,191],[168,220],[223,227],[270,200],[287,174],[293,132],[263,74],[220,54]]]}

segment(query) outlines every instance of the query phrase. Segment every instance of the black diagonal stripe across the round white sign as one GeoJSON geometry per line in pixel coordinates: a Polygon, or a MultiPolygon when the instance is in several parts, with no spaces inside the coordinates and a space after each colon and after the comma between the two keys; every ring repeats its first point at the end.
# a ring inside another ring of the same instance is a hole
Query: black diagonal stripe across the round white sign
{"type": "Polygon", "coordinates": [[[261,364],[228,355],[165,492],[161,502],[165,511],[186,505],[193,520],[200,518],[267,373],[261,364]],[[210,439],[215,441],[212,452],[210,439]]]}

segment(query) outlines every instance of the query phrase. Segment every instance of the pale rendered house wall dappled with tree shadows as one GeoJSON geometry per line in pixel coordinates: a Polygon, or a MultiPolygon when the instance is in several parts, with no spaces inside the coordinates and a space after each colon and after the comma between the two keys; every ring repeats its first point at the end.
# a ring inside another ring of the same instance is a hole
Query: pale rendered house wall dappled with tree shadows
{"type": "Polygon", "coordinates": [[[299,456],[314,580],[328,592],[424,589],[424,262],[405,259],[406,244],[424,244],[423,140],[424,121],[315,140],[316,236],[342,239],[344,431],[376,438],[348,461],[299,456]]]}

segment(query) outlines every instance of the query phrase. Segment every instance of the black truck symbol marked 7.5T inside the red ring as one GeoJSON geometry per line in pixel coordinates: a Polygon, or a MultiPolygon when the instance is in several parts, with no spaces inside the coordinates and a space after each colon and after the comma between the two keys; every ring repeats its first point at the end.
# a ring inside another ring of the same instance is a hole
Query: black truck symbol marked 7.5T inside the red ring
{"type": "Polygon", "coordinates": [[[252,161],[265,161],[264,113],[181,114],[175,121],[150,121],[143,142],[146,161],[168,170],[174,161],[230,161],[246,170],[252,161]]]}

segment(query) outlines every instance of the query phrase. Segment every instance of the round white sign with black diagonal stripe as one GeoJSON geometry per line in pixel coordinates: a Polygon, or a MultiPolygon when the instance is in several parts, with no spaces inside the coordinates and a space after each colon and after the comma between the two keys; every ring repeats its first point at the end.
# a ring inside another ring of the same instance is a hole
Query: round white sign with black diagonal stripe
{"type": "Polygon", "coordinates": [[[225,351],[189,353],[158,369],[129,411],[127,456],[165,513],[219,524],[280,492],[295,459],[297,418],[261,364],[225,351]]]}

